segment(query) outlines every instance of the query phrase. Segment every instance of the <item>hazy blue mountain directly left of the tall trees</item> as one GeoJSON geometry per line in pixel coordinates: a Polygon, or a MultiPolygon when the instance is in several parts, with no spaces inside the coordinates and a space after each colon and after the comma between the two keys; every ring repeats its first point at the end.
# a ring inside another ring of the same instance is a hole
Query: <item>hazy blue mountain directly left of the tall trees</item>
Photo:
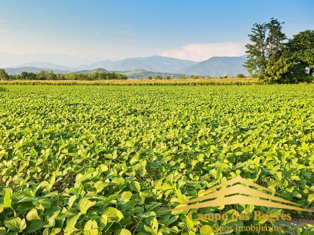
{"type": "Polygon", "coordinates": [[[188,68],[181,70],[181,73],[194,75],[209,75],[209,76],[235,76],[238,73],[248,75],[246,68],[243,67],[246,57],[239,56],[214,56],[208,60],[199,62],[188,68]]]}

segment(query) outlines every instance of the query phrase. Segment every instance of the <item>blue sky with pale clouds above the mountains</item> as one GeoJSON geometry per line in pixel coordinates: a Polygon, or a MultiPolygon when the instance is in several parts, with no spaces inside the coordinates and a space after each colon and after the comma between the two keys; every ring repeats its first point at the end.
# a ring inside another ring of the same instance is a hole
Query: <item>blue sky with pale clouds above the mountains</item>
{"type": "Polygon", "coordinates": [[[254,23],[314,29],[314,0],[0,0],[0,52],[86,60],[245,53],[254,23]]]}

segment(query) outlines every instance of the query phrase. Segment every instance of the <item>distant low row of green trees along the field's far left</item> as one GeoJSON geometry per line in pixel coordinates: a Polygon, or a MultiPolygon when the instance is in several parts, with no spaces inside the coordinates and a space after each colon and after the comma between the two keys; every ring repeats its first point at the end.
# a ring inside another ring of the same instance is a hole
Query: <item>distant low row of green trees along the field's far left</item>
{"type": "Polygon", "coordinates": [[[115,72],[99,72],[67,74],[57,73],[53,71],[21,72],[21,74],[8,75],[5,70],[0,69],[0,80],[126,80],[128,76],[115,72]]]}

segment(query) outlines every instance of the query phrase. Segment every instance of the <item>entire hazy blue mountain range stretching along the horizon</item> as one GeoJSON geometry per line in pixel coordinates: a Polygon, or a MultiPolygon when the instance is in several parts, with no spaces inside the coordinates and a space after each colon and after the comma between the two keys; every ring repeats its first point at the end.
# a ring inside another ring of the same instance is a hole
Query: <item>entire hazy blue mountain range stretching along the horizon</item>
{"type": "MultiPolygon", "coordinates": [[[[58,65],[45,61],[26,62],[18,66],[6,68],[9,74],[19,74],[21,71],[54,71],[56,73],[68,73],[71,71],[93,71],[95,69],[105,69],[107,71],[151,71],[162,73],[176,73],[186,75],[209,75],[222,76],[228,74],[235,76],[238,73],[248,75],[243,67],[246,56],[214,56],[208,60],[196,62],[190,60],[181,60],[159,55],[149,57],[134,57],[124,60],[103,60],[91,63],[89,65],[80,65],[78,67],[58,65]]],[[[142,72],[143,73],[143,72],[142,72]]]]}

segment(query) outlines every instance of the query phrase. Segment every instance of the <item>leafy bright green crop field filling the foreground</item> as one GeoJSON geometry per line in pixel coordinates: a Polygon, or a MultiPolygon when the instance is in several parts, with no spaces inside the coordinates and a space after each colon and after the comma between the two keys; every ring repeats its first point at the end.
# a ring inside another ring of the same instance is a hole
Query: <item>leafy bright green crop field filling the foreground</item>
{"type": "Polygon", "coordinates": [[[236,175],[314,209],[314,85],[2,87],[0,235],[212,235],[160,210],[236,175]]]}

